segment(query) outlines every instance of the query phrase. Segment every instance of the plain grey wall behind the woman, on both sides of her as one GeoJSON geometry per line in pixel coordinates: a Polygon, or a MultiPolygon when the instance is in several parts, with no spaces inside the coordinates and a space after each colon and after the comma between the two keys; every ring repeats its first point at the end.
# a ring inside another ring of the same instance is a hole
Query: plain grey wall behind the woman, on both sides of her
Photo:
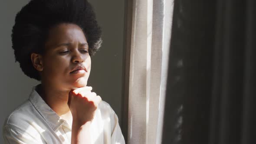
{"type": "MultiPolygon", "coordinates": [[[[28,78],[14,59],[11,29],[16,13],[29,0],[0,1],[0,124],[18,105],[25,101],[36,80],[28,78]]],[[[124,36],[125,0],[89,0],[95,7],[98,23],[102,26],[102,48],[92,57],[89,85],[107,101],[121,119],[121,73],[124,36]]],[[[0,131],[0,143],[3,143],[0,131]]]]}

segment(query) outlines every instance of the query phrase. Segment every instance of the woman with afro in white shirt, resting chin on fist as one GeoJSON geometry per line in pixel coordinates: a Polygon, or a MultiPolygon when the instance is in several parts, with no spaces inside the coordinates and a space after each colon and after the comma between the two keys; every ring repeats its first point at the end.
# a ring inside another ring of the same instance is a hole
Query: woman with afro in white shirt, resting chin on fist
{"type": "Polygon", "coordinates": [[[101,30],[86,0],[31,0],[16,15],[16,61],[41,81],[3,125],[6,144],[124,144],[118,118],[86,86],[101,30]]]}

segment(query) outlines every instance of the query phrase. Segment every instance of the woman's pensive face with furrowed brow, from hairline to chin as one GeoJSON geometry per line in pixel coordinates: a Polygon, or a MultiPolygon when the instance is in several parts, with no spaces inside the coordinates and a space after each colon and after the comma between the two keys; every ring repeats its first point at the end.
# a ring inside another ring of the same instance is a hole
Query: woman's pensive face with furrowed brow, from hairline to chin
{"type": "Polygon", "coordinates": [[[79,26],[62,23],[50,29],[45,49],[42,56],[42,83],[58,90],[87,85],[91,57],[85,35],[79,26]]]}

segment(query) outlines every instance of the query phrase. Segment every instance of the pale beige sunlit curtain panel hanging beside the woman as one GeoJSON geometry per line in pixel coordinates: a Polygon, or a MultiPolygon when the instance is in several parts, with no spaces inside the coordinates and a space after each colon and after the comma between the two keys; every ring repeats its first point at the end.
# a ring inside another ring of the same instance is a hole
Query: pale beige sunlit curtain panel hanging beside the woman
{"type": "Polygon", "coordinates": [[[128,144],[161,144],[173,0],[133,0],[128,144]]]}

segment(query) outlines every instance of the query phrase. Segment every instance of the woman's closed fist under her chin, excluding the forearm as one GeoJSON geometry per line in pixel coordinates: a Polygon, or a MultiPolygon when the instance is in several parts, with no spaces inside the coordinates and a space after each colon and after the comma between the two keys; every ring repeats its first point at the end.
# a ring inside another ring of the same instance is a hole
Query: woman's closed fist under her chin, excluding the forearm
{"type": "Polygon", "coordinates": [[[73,122],[83,125],[92,121],[95,110],[102,99],[91,91],[92,87],[86,86],[69,92],[68,105],[72,113],[73,122]]]}

